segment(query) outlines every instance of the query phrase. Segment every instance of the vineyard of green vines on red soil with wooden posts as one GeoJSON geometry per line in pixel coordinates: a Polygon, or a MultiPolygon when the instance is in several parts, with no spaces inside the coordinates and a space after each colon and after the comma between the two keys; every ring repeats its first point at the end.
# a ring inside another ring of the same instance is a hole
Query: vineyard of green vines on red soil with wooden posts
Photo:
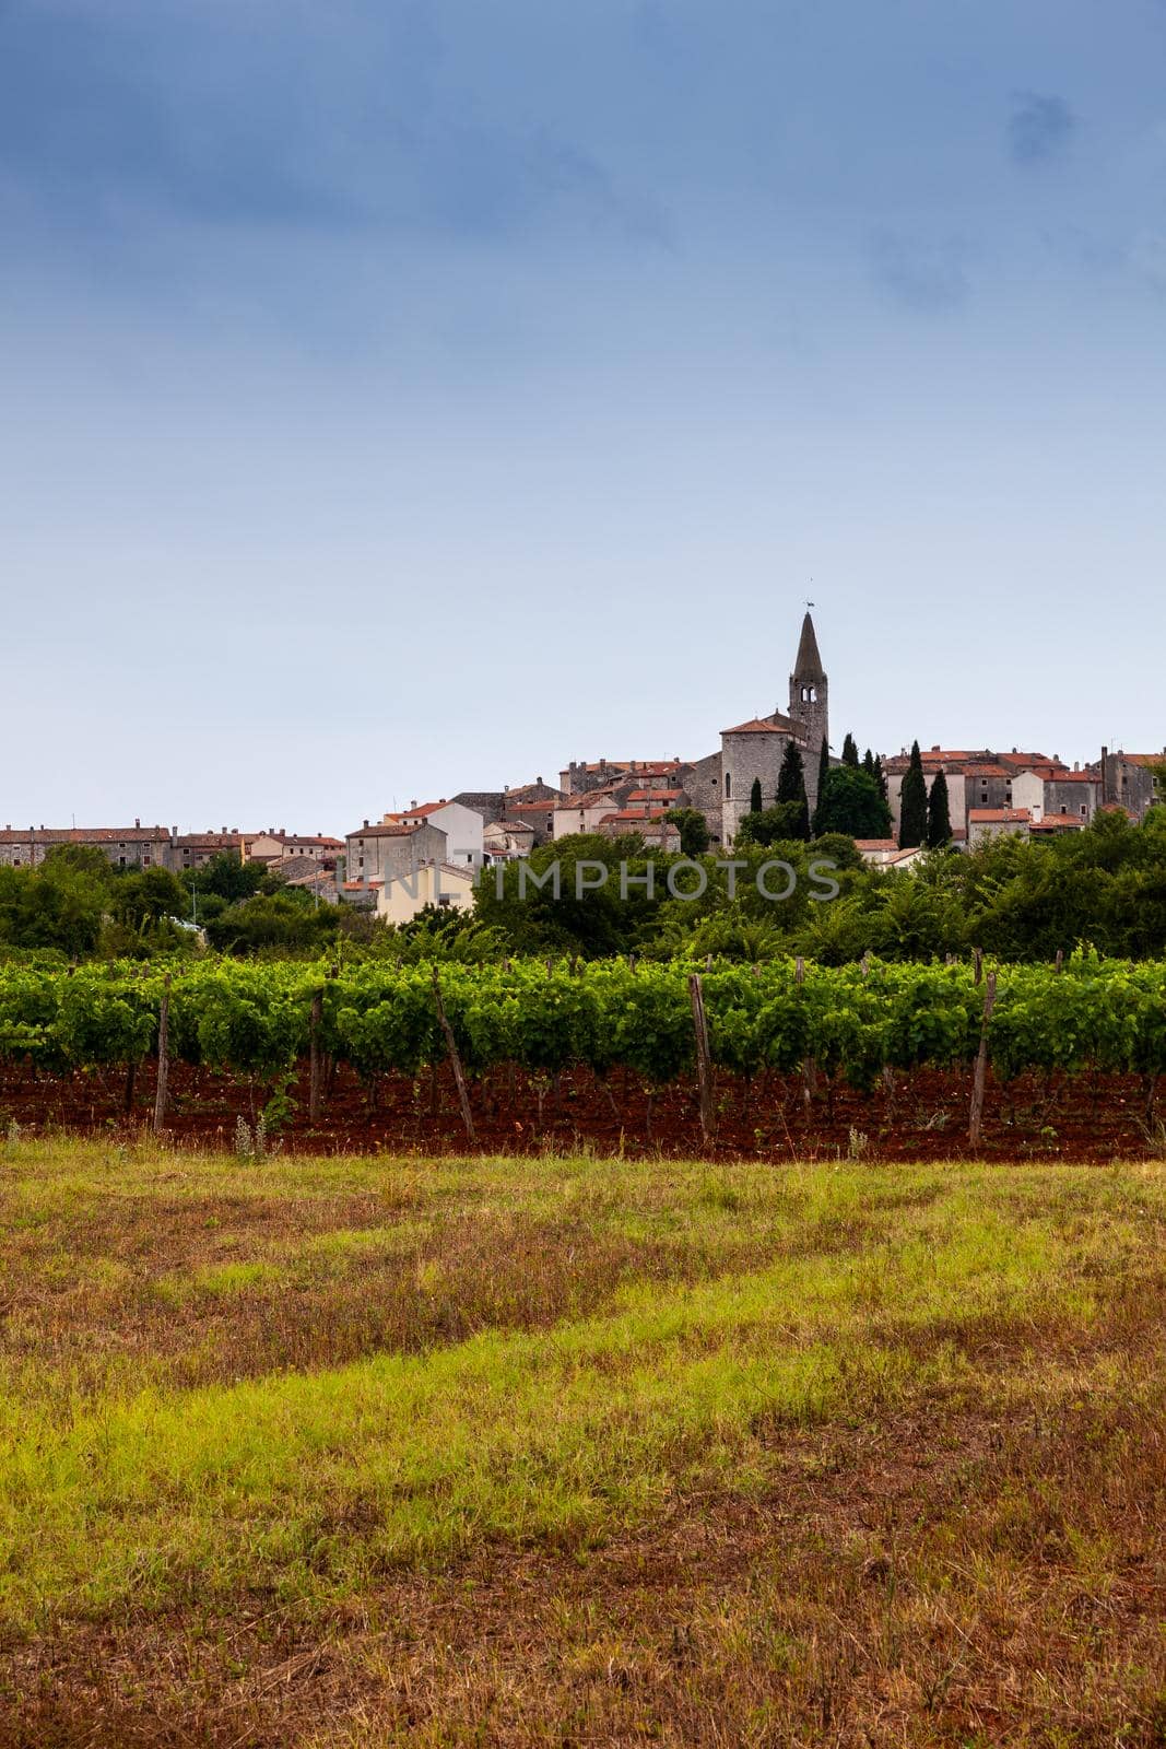
{"type": "Polygon", "coordinates": [[[217,1126],[229,1142],[234,1121],[262,1119],[264,1137],[316,1144],[526,1147],[566,1125],[601,1144],[813,1153],[928,1107],[923,1153],[935,1153],[956,1135],[979,1146],[1000,1112],[1037,1114],[1049,1140],[1073,1112],[1098,1130],[1112,1107],[1124,1128],[1101,1123],[1105,1153],[1161,1135],[1164,1069],[1166,965],[1093,953],[995,971],[0,969],[0,1114],[19,1126],[129,1118],[203,1140],[217,1126]]]}

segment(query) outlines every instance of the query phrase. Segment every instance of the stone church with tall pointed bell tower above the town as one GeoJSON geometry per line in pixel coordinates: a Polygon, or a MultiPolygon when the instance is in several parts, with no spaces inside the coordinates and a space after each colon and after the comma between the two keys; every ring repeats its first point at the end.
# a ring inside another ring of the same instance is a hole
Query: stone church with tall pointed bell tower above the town
{"type": "Polygon", "coordinates": [[[720,752],[698,759],[685,771],[684,787],[692,806],[701,810],[718,843],[729,847],[736,838],[741,815],[748,813],[753,778],[760,780],[762,805],[773,806],[788,742],[795,742],[801,750],[813,813],[818,801],[822,743],[830,745],[830,717],[829,682],[809,614],[802,619],[802,635],[790,673],[788,710],[774,710],[769,717],[753,717],[732,729],[722,729],[720,752]]]}

